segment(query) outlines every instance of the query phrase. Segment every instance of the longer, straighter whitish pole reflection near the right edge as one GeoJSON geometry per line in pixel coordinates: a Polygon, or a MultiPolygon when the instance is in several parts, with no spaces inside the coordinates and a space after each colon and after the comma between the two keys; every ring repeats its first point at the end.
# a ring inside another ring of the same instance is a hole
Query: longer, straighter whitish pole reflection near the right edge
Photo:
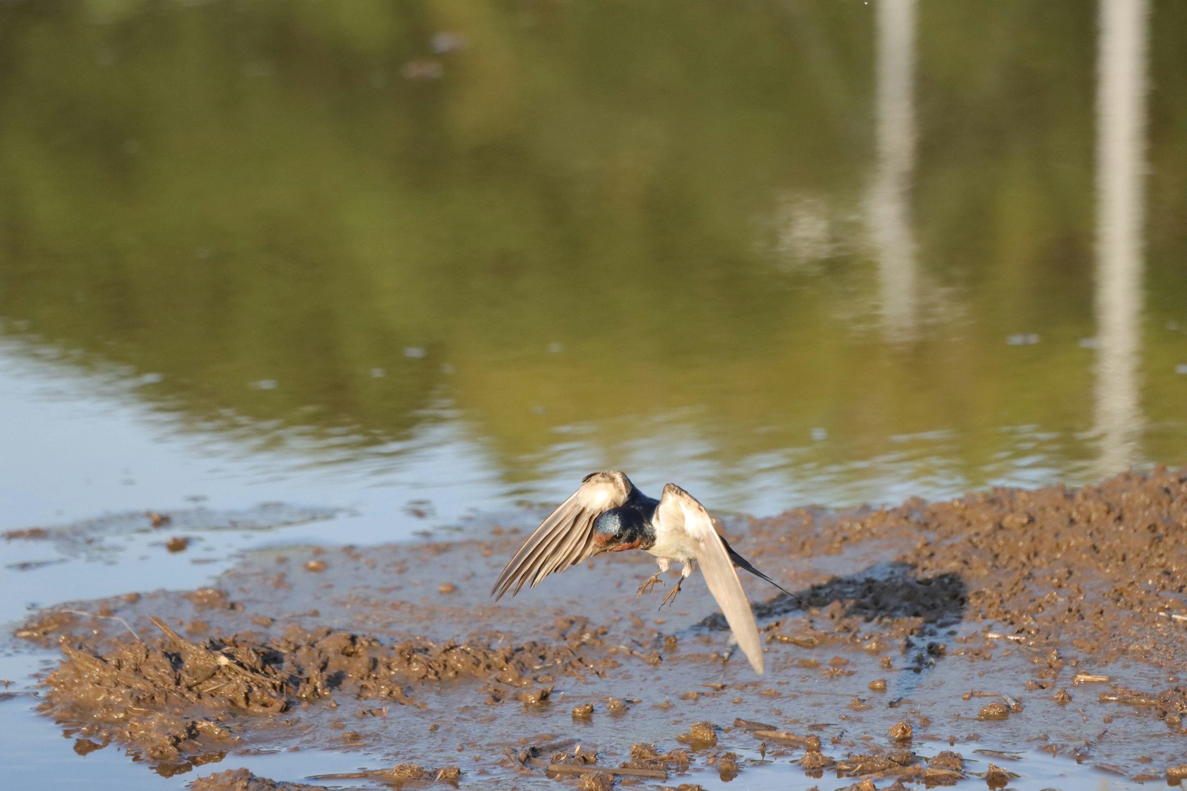
{"type": "Polygon", "coordinates": [[[1147,0],[1100,0],[1097,53],[1097,402],[1102,472],[1137,460],[1147,0]]]}

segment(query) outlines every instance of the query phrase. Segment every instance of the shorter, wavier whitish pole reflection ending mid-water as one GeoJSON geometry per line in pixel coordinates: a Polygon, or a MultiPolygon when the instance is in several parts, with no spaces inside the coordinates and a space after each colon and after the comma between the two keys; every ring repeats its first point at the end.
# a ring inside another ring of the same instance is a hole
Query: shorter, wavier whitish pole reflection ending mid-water
{"type": "Polygon", "coordinates": [[[878,255],[882,326],[907,339],[918,320],[910,174],[915,166],[915,0],[877,4],[878,174],[870,225],[878,255]]]}

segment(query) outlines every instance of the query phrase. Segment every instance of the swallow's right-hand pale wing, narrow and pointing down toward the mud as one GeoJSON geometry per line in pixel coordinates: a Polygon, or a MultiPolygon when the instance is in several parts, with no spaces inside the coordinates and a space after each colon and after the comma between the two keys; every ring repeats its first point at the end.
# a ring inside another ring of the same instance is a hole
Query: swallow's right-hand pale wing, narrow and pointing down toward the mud
{"type": "Polygon", "coordinates": [[[675,484],[668,484],[664,487],[664,496],[655,511],[655,522],[662,530],[683,527],[685,535],[693,541],[705,583],[717,599],[717,605],[734,630],[734,637],[750,661],[750,666],[761,676],[762,640],[758,638],[758,626],[754,623],[750,602],[747,601],[737,572],[734,570],[725,543],[713,530],[705,506],[675,484]]]}

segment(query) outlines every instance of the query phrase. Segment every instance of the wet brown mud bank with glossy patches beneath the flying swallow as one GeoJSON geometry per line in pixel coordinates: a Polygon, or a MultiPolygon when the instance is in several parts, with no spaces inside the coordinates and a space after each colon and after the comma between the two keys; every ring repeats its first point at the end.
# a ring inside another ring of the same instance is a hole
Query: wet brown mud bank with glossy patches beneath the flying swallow
{"type": "Polygon", "coordinates": [[[1075,777],[1187,774],[1187,473],[725,518],[796,592],[743,581],[762,677],[699,575],[662,612],[662,593],[635,600],[642,553],[493,604],[534,516],[455,542],[259,551],[191,592],[129,581],[15,638],[61,650],[40,710],[76,751],[115,745],[196,790],[305,787],[231,770],[310,748],[358,753],[366,768],[322,779],[363,785],[777,770],[861,791],[1004,787],[1039,753],[1075,777]]]}

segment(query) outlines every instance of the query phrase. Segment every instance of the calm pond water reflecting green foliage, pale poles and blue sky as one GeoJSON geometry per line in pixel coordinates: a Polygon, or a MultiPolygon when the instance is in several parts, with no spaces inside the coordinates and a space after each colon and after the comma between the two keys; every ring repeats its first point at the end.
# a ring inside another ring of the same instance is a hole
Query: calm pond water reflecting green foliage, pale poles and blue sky
{"type": "MultiPolygon", "coordinates": [[[[595,468],[773,515],[1187,463],[1187,17],[1135,19],[5,5],[0,530],[75,538],[0,544],[0,623],[595,468]]],[[[30,782],[179,782],[26,709],[30,782]]]]}

